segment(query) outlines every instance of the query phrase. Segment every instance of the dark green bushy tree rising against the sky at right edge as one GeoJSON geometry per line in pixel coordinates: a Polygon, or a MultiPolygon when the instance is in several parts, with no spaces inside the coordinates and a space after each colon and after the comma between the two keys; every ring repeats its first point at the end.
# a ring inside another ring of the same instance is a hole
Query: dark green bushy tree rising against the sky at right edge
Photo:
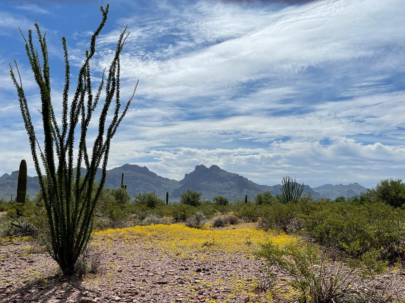
{"type": "Polygon", "coordinates": [[[371,199],[382,201],[393,207],[405,204],[405,183],[401,179],[385,179],[368,192],[371,199]]]}

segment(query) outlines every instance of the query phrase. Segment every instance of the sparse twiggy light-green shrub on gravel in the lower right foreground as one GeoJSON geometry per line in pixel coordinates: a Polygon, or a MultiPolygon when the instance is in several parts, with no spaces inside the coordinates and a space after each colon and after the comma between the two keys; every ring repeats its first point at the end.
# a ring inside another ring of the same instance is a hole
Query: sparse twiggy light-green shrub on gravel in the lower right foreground
{"type": "MultiPolygon", "coordinates": [[[[361,289],[353,285],[358,268],[345,267],[343,263],[335,264],[337,267],[328,266],[329,258],[326,250],[295,243],[279,247],[269,242],[262,244],[256,256],[267,261],[267,284],[274,285],[271,279],[275,277],[277,271],[287,278],[287,284],[284,286],[288,285],[295,290],[296,299],[300,303],[354,302],[354,299],[361,299],[357,297],[361,289]]],[[[380,272],[382,270],[378,271],[380,272]]],[[[366,300],[356,302],[386,302],[373,301],[383,297],[376,298],[367,292],[361,294],[366,300]]]]}

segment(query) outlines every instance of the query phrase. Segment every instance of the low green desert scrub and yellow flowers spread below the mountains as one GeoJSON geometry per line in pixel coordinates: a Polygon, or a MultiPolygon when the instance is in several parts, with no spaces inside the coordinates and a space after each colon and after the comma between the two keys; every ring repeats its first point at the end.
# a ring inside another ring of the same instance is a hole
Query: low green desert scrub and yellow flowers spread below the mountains
{"type": "MultiPolygon", "coordinates": [[[[206,247],[211,252],[254,254],[266,262],[249,293],[265,292],[269,302],[401,302],[400,294],[396,299],[394,292],[358,284],[401,268],[405,261],[401,193],[396,182],[384,180],[361,196],[334,201],[307,195],[286,203],[283,196],[264,192],[249,203],[225,203],[218,197],[197,203],[200,193],[189,191],[184,197],[190,200],[166,205],[153,192],[131,198],[124,189],[103,189],[94,237],[145,241],[146,247],[178,257],[199,253],[204,259],[206,247]]],[[[39,194],[23,205],[6,202],[0,208],[7,212],[0,217],[3,242],[23,234],[46,241],[39,194]]],[[[97,273],[100,258],[83,252],[77,275],[97,273]]]]}

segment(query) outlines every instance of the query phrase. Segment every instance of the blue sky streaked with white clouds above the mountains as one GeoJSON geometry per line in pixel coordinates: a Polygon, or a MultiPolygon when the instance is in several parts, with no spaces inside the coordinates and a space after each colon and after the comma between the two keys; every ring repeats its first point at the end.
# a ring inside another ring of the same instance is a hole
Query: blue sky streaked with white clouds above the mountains
{"type": "MultiPolygon", "coordinates": [[[[9,72],[14,59],[41,135],[40,95],[18,27],[26,35],[36,21],[46,31],[57,111],[61,37],[74,86],[101,4],[0,0],[0,176],[23,158],[36,175],[9,72]]],[[[403,0],[113,0],[91,62],[95,86],[126,25],[122,101],[139,85],[108,168],[138,164],[181,180],[215,164],[258,184],[289,175],[311,187],[405,179],[403,0]]]]}

